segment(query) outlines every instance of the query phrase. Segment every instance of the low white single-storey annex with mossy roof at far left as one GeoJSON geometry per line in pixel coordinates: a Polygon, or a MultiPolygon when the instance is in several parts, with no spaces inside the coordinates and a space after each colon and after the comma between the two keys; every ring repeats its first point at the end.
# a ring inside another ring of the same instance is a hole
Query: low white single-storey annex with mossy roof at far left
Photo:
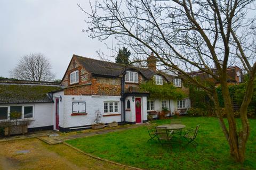
{"type": "Polygon", "coordinates": [[[52,96],[59,83],[0,80],[0,121],[10,120],[10,112],[21,113],[20,120],[30,120],[29,131],[53,129],[52,96]]]}

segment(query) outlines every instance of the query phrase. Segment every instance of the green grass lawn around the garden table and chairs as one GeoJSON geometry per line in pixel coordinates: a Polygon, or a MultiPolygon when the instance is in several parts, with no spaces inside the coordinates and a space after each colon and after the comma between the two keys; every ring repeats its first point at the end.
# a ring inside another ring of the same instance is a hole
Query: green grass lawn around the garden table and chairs
{"type": "MultiPolygon", "coordinates": [[[[250,120],[251,135],[247,142],[246,160],[236,163],[215,117],[181,117],[182,123],[195,128],[201,124],[197,148],[177,144],[161,145],[150,141],[145,126],[94,137],[69,140],[67,143],[87,153],[143,169],[256,169],[256,120],[250,120]]],[[[164,124],[170,120],[157,120],[164,124]]],[[[239,120],[237,120],[239,122],[239,120]]],[[[240,126],[241,127],[241,126],[240,126]]],[[[185,144],[183,141],[183,145],[185,144]]]]}

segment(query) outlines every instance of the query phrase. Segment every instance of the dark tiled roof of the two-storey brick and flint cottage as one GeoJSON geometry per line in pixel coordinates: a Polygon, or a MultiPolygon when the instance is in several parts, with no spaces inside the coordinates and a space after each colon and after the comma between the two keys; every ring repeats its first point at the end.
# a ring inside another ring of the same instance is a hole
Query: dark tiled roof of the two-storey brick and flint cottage
{"type": "Polygon", "coordinates": [[[92,58],[87,58],[87,57],[82,57],[82,56],[77,56],[77,55],[73,55],[73,56],[77,58],[77,61],[79,63],[81,63],[87,71],[91,72],[94,75],[118,77],[125,70],[137,70],[146,79],[151,79],[153,77],[153,75],[155,75],[155,74],[162,74],[167,79],[167,81],[171,81],[171,79],[173,77],[171,75],[167,75],[164,72],[152,71],[150,69],[146,69],[146,68],[142,68],[142,67],[125,66],[123,64],[107,62],[107,61],[100,61],[100,60],[95,60],[92,58]]]}

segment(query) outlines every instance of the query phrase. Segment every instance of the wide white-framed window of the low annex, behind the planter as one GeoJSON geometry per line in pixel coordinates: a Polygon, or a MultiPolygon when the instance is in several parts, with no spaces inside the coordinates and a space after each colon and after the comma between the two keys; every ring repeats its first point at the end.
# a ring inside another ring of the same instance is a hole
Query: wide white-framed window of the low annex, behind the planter
{"type": "Polygon", "coordinates": [[[2,120],[22,120],[27,118],[33,118],[34,116],[34,106],[4,106],[0,107],[0,121],[2,120]],[[11,113],[16,113],[18,115],[13,115],[11,113]]]}

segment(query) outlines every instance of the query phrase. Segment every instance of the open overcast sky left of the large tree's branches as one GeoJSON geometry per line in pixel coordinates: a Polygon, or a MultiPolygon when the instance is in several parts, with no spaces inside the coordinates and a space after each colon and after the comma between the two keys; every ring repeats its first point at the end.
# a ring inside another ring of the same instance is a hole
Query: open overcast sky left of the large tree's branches
{"type": "Polygon", "coordinates": [[[86,15],[77,3],[89,10],[89,1],[0,0],[0,77],[19,58],[42,53],[50,58],[52,71],[61,79],[73,54],[97,58],[96,51],[109,53],[104,43],[88,38],[86,15]]]}

